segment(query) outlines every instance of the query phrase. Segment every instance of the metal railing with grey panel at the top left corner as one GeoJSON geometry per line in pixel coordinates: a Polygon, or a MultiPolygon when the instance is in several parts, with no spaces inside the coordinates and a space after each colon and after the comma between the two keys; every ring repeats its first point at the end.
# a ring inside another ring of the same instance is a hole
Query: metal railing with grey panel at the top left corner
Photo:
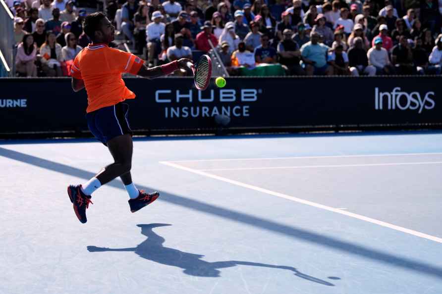
{"type": "Polygon", "coordinates": [[[14,16],[4,0],[0,0],[0,77],[15,74],[14,16]]]}

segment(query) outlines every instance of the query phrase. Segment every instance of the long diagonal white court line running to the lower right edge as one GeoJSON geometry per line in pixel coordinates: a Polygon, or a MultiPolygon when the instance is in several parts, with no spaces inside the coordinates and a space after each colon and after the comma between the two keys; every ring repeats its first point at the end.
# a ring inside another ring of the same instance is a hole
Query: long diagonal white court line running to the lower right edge
{"type": "Polygon", "coordinates": [[[396,225],[393,225],[393,224],[390,224],[390,223],[387,223],[387,222],[383,222],[383,221],[380,221],[380,220],[377,220],[377,219],[374,219],[374,218],[366,217],[366,216],[363,216],[363,215],[360,215],[360,214],[352,213],[352,212],[345,211],[345,210],[340,210],[338,208],[333,208],[333,207],[330,207],[330,206],[327,206],[327,205],[315,203],[315,202],[308,201],[308,200],[305,200],[305,199],[289,196],[289,195],[278,193],[278,192],[275,192],[275,191],[263,189],[263,188],[260,188],[260,187],[257,187],[257,186],[253,186],[253,185],[241,183],[241,182],[238,182],[238,181],[230,180],[230,179],[227,179],[227,178],[224,178],[224,177],[212,175],[212,174],[206,173],[204,171],[188,168],[188,167],[185,167],[185,166],[182,166],[182,165],[170,162],[170,161],[160,161],[160,163],[162,163],[164,165],[167,165],[167,166],[170,166],[170,167],[174,167],[174,168],[182,169],[182,170],[185,170],[185,171],[188,171],[188,172],[191,172],[191,173],[195,173],[195,174],[198,174],[198,175],[201,175],[201,176],[209,177],[209,178],[216,179],[216,180],[219,180],[219,181],[223,181],[223,182],[226,182],[226,183],[229,183],[229,184],[240,186],[240,187],[243,187],[243,188],[251,189],[251,190],[254,190],[254,191],[261,192],[261,193],[265,193],[265,194],[269,194],[269,195],[272,195],[272,196],[284,198],[284,199],[287,199],[287,200],[290,200],[290,201],[299,202],[299,203],[307,204],[307,205],[310,205],[310,206],[313,206],[313,207],[317,207],[317,208],[325,209],[325,210],[328,210],[328,211],[336,212],[336,213],[343,214],[343,215],[346,215],[346,216],[349,216],[349,217],[353,217],[353,218],[357,218],[359,220],[363,220],[363,221],[366,221],[366,222],[369,222],[369,223],[373,223],[373,224],[377,224],[377,225],[380,225],[380,226],[383,226],[383,227],[387,227],[387,228],[390,228],[390,229],[393,229],[393,230],[396,230],[396,231],[407,233],[407,234],[410,234],[410,235],[413,235],[413,236],[417,236],[417,237],[420,237],[420,238],[424,238],[424,239],[432,240],[432,241],[435,241],[435,242],[438,242],[438,243],[442,243],[442,238],[431,236],[431,235],[427,235],[427,234],[424,234],[424,233],[421,233],[421,232],[418,232],[418,231],[414,231],[414,230],[410,230],[410,229],[407,229],[407,228],[399,227],[399,226],[396,226],[396,225]]]}

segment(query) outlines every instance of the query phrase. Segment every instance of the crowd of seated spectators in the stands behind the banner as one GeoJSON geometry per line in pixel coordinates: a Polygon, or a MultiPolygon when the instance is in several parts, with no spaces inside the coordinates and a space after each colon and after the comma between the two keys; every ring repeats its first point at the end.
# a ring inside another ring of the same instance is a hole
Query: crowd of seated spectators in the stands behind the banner
{"type": "MultiPolygon", "coordinates": [[[[72,0],[7,0],[16,69],[60,76],[90,42],[72,0]]],[[[230,74],[441,74],[442,0],[104,0],[117,35],[149,66],[217,53],[230,74]],[[213,48],[217,52],[213,52],[213,48]]]]}

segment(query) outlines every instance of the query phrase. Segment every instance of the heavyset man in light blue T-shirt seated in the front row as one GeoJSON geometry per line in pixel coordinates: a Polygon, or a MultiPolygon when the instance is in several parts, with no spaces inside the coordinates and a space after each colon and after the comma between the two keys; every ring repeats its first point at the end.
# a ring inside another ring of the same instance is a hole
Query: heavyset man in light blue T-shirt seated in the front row
{"type": "Polygon", "coordinates": [[[310,42],[301,47],[301,55],[305,72],[312,75],[332,75],[333,69],[327,64],[327,53],[329,47],[318,43],[319,34],[312,32],[310,42]]]}

